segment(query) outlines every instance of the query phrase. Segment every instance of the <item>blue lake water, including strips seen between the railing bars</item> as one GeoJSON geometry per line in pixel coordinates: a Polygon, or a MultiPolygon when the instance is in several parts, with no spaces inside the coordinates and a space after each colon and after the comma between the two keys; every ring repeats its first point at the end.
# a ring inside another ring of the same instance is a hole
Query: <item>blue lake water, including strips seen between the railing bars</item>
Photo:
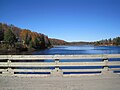
{"type": "MultiPolygon", "coordinates": [[[[120,46],[56,46],[50,49],[33,52],[34,55],[82,55],[82,54],[120,54],[120,46]]],[[[39,61],[39,60],[38,60],[39,61]]],[[[73,59],[59,60],[60,62],[102,62],[102,59],[73,59]]],[[[120,61],[120,59],[109,59],[109,61],[120,61]]],[[[40,60],[40,62],[54,62],[54,60],[40,60]]],[[[32,67],[33,68],[33,67],[32,67]]],[[[61,66],[60,69],[101,69],[102,66],[61,66]]],[[[120,66],[109,66],[109,68],[120,68],[120,66]]],[[[31,69],[31,68],[28,68],[31,69]]],[[[37,69],[37,68],[34,68],[37,69]]],[[[44,69],[55,69],[55,67],[45,67],[44,69]]],[[[64,74],[84,74],[101,72],[63,72],[64,74]]],[[[32,73],[33,74],[33,73],[32,73]]],[[[42,73],[43,74],[43,73],[42,73]]],[[[45,74],[45,73],[44,73],[45,74]]],[[[47,72],[46,74],[50,74],[47,72]]]]}

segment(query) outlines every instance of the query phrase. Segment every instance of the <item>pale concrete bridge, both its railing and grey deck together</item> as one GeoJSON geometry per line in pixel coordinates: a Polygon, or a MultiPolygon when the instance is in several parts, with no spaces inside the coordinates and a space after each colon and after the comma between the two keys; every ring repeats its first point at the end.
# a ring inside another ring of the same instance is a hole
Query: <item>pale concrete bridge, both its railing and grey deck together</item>
{"type": "Polygon", "coordinates": [[[0,90],[120,90],[120,54],[104,55],[0,55],[0,90]],[[4,59],[2,61],[2,59],[4,59]],[[55,62],[39,62],[39,59],[54,59],[55,62]],[[102,59],[99,62],[59,62],[58,59],[102,59]],[[19,62],[17,62],[19,60],[19,62]],[[28,62],[22,62],[28,60],[28,62]],[[36,62],[34,62],[36,61],[36,62]],[[55,69],[21,69],[20,67],[53,66],[55,69]],[[60,66],[102,66],[96,69],[60,69],[60,66]],[[19,67],[16,68],[16,67],[19,67]],[[63,75],[63,72],[101,71],[93,76],[77,74],[63,75]],[[39,74],[16,74],[16,72],[50,72],[48,77],[39,74]]]}

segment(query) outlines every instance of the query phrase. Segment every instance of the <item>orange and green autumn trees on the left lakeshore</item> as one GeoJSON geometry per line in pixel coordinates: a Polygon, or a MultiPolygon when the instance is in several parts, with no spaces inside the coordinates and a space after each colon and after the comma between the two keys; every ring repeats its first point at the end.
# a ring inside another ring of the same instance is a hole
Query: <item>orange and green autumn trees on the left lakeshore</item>
{"type": "Polygon", "coordinates": [[[45,49],[51,46],[48,36],[21,29],[14,25],[0,23],[0,48],[1,49],[45,49]]]}

